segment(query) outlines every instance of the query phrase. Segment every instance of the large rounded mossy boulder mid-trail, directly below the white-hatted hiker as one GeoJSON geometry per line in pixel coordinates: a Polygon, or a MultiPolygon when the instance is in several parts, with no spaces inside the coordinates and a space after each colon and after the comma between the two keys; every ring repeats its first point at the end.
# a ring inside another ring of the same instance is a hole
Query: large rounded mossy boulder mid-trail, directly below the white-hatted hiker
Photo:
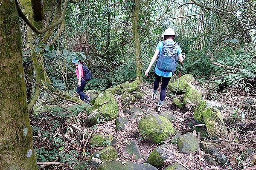
{"type": "Polygon", "coordinates": [[[156,144],[165,141],[177,132],[168,119],[159,115],[144,116],[138,128],[143,139],[156,144]]]}

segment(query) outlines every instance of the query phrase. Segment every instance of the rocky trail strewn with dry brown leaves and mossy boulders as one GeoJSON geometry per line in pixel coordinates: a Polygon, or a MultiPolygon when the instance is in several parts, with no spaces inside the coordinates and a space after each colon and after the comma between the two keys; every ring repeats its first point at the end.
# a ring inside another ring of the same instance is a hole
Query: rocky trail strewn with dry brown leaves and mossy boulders
{"type": "MultiPolygon", "coordinates": [[[[233,109],[229,105],[205,100],[205,89],[198,86],[191,75],[180,78],[179,93],[174,99],[176,87],[177,80],[173,79],[161,113],[155,112],[158,100],[151,99],[151,84],[145,83],[139,90],[136,82],[127,82],[103,93],[87,91],[93,106],[77,116],[83,120],[80,121],[81,127],[64,134],[69,138],[66,150],[71,147],[91,155],[79,156],[83,161],[74,169],[233,168],[236,162],[233,159],[237,155],[232,153],[230,141],[236,134],[227,130],[223,119],[233,109]],[[72,140],[77,141],[73,146],[72,140]]],[[[246,145],[239,145],[242,151],[239,156],[248,162],[255,159],[255,131],[250,129],[249,132],[246,145]]]]}

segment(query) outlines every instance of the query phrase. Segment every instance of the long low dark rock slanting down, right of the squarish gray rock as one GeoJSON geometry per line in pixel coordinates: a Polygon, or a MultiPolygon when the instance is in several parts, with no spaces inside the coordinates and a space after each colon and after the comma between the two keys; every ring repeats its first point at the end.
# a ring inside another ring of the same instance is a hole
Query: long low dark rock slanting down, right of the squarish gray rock
{"type": "Polygon", "coordinates": [[[227,157],[210,142],[202,141],[200,143],[200,147],[202,150],[204,150],[205,153],[210,154],[217,161],[218,164],[223,165],[227,163],[227,157]]]}

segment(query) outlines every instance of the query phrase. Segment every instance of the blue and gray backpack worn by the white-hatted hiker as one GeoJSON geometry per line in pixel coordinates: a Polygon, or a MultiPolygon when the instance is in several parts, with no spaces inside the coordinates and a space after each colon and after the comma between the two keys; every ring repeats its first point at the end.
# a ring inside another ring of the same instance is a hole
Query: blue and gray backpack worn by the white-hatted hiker
{"type": "Polygon", "coordinates": [[[157,58],[157,68],[160,71],[173,72],[177,67],[177,42],[175,44],[167,44],[163,41],[162,52],[159,54],[157,58]]]}

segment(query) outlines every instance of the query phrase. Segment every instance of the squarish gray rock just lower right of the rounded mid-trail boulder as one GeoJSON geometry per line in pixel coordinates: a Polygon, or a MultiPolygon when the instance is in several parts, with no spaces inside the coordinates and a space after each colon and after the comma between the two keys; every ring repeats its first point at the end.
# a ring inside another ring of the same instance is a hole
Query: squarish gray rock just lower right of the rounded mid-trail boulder
{"type": "Polygon", "coordinates": [[[194,153],[198,150],[198,139],[192,133],[179,136],[177,143],[181,153],[194,153]]]}

